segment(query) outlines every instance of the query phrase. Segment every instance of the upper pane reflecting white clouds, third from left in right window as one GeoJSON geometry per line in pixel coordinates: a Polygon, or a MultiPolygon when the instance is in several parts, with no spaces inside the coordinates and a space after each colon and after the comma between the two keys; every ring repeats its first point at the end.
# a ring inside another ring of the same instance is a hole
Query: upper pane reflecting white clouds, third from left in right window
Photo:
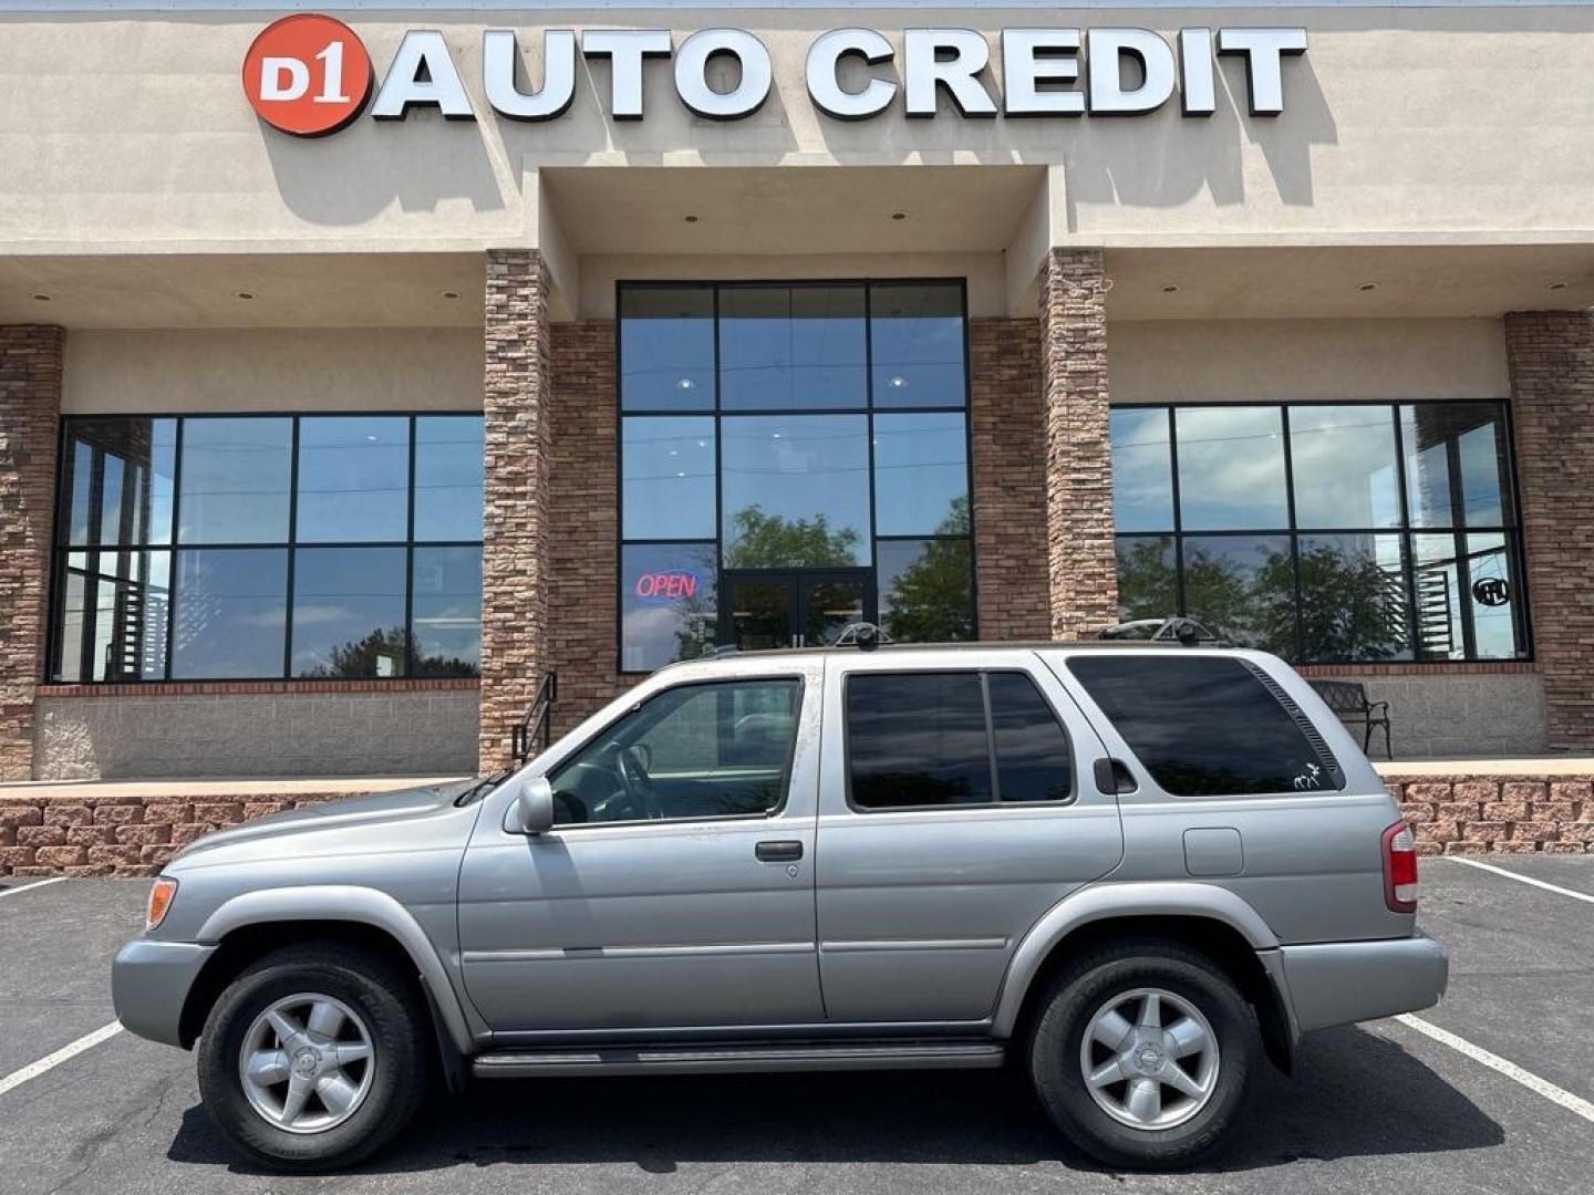
{"type": "Polygon", "coordinates": [[[1400,524],[1388,406],[1291,406],[1290,459],[1298,526],[1400,524]]]}

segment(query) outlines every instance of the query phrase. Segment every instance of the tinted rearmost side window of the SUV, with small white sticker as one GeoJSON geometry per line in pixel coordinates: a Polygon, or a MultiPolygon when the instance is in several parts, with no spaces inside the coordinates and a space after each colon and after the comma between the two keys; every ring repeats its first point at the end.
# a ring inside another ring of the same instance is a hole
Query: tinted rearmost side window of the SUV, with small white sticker
{"type": "Polygon", "coordinates": [[[1305,714],[1240,660],[1074,656],[1068,671],[1176,797],[1344,787],[1305,714]]]}

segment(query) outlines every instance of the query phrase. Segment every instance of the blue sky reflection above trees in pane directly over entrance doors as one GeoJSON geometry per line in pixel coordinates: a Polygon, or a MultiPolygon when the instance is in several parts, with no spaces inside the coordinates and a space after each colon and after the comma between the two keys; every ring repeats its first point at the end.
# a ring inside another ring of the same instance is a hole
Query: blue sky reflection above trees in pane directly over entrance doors
{"type": "Polygon", "coordinates": [[[867,421],[854,414],[791,419],[727,417],[720,422],[725,553],[735,545],[736,511],[757,507],[794,523],[824,518],[832,535],[858,534],[858,562],[869,543],[867,421]]]}

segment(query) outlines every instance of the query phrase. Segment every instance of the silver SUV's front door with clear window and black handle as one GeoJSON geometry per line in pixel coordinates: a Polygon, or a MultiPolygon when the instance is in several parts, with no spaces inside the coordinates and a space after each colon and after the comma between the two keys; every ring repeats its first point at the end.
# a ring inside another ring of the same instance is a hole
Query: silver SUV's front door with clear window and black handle
{"type": "Polygon", "coordinates": [[[823,1020],[821,679],[797,658],[657,690],[550,770],[552,832],[478,821],[459,938],[494,1031],[823,1020]]]}

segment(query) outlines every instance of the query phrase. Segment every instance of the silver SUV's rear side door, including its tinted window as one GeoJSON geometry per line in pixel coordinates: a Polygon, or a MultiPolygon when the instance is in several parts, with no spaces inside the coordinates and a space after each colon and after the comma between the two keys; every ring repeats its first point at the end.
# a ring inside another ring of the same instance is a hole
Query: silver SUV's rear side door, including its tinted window
{"type": "Polygon", "coordinates": [[[819,977],[832,1021],[980,1021],[1025,931],[1122,859],[1101,741],[1022,650],[832,656],[819,977]]]}

